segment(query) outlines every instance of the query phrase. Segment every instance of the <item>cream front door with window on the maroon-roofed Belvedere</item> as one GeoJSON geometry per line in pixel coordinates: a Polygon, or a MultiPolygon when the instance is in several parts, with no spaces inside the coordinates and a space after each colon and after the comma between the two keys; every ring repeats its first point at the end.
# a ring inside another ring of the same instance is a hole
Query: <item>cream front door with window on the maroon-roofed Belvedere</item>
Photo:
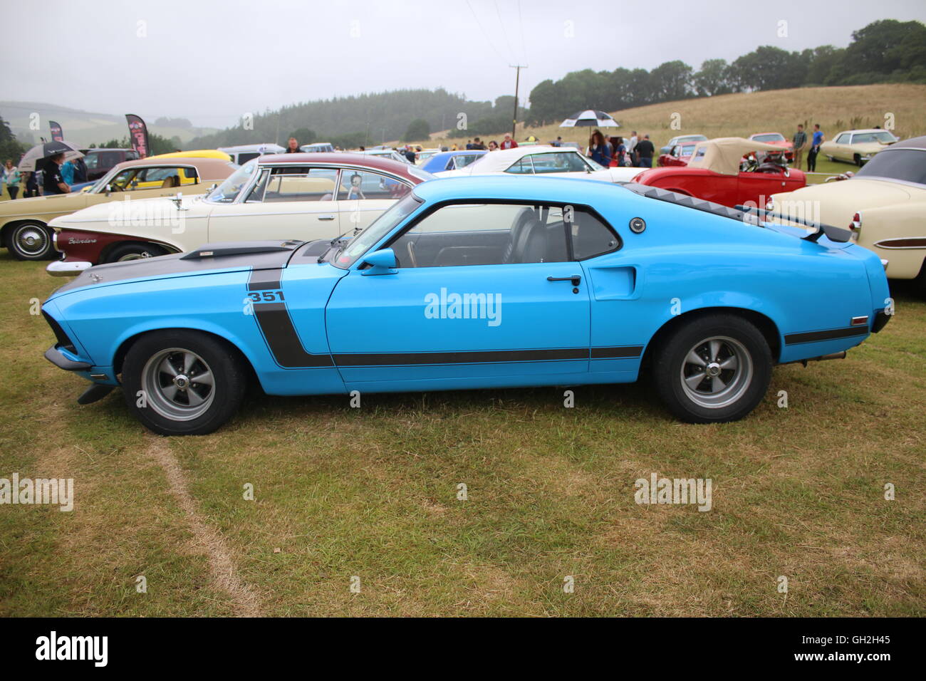
{"type": "Polygon", "coordinates": [[[234,203],[209,215],[209,241],[333,239],[344,232],[337,201],[338,170],[271,166],[234,203]]]}

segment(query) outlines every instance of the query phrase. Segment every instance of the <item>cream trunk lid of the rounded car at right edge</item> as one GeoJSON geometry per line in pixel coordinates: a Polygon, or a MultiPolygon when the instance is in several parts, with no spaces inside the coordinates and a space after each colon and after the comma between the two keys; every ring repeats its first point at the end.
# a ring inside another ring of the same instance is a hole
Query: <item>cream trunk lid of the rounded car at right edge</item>
{"type": "Polygon", "coordinates": [[[785,215],[796,215],[796,210],[803,210],[802,214],[807,215],[807,211],[819,210],[821,222],[845,227],[857,210],[903,203],[910,199],[910,192],[901,184],[854,177],[808,185],[795,192],[772,195],[772,199],[775,212],[783,209],[785,215]],[[796,208],[789,210],[789,206],[796,208]]]}

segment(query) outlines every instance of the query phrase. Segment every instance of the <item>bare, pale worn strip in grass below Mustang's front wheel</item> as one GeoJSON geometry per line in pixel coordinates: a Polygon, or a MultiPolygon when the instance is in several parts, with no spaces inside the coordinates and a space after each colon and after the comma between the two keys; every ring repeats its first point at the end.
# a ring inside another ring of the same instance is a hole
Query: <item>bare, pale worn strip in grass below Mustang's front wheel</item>
{"type": "Polygon", "coordinates": [[[196,502],[187,488],[186,476],[180,462],[163,438],[158,435],[146,435],[146,439],[148,454],[163,469],[170,485],[170,492],[186,513],[194,535],[194,547],[202,548],[206,552],[213,582],[232,597],[235,616],[262,617],[264,613],[257,594],[235,574],[232,549],[219,531],[200,515],[196,502]]]}

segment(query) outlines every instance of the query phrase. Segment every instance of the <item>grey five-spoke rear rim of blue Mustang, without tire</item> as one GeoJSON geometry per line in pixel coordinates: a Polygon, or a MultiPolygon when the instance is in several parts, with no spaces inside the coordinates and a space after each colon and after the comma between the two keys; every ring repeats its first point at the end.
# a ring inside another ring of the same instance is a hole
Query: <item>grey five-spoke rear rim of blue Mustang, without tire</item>
{"type": "Polygon", "coordinates": [[[753,378],[752,356],[729,336],[705,338],[682,361],[682,389],[701,407],[720,409],[735,402],[753,378]]]}

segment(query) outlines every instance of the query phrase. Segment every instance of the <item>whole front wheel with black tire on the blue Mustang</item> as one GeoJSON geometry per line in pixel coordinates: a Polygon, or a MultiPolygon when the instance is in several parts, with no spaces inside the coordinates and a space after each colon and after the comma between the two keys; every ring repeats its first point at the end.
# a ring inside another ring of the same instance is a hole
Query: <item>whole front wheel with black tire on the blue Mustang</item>
{"type": "Polygon", "coordinates": [[[206,435],[238,410],[247,376],[244,360],[230,344],[197,331],[172,329],[135,342],[122,364],[122,390],[135,417],[158,435],[206,435]],[[194,359],[186,364],[191,355],[194,359]],[[169,371],[163,369],[165,362],[169,371]],[[171,377],[171,372],[177,375],[171,377]],[[206,372],[212,385],[196,381],[206,372]]]}

